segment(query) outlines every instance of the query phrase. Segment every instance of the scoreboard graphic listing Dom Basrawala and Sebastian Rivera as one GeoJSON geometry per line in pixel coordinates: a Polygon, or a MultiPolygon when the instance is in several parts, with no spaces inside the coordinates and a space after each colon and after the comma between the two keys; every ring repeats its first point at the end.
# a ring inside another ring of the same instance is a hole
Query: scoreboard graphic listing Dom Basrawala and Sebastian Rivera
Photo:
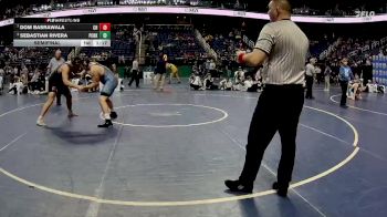
{"type": "Polygon", "coordinates": [[[111,23],[79,18],[15,19],[13,46],[111,46],[111,23]]]}

